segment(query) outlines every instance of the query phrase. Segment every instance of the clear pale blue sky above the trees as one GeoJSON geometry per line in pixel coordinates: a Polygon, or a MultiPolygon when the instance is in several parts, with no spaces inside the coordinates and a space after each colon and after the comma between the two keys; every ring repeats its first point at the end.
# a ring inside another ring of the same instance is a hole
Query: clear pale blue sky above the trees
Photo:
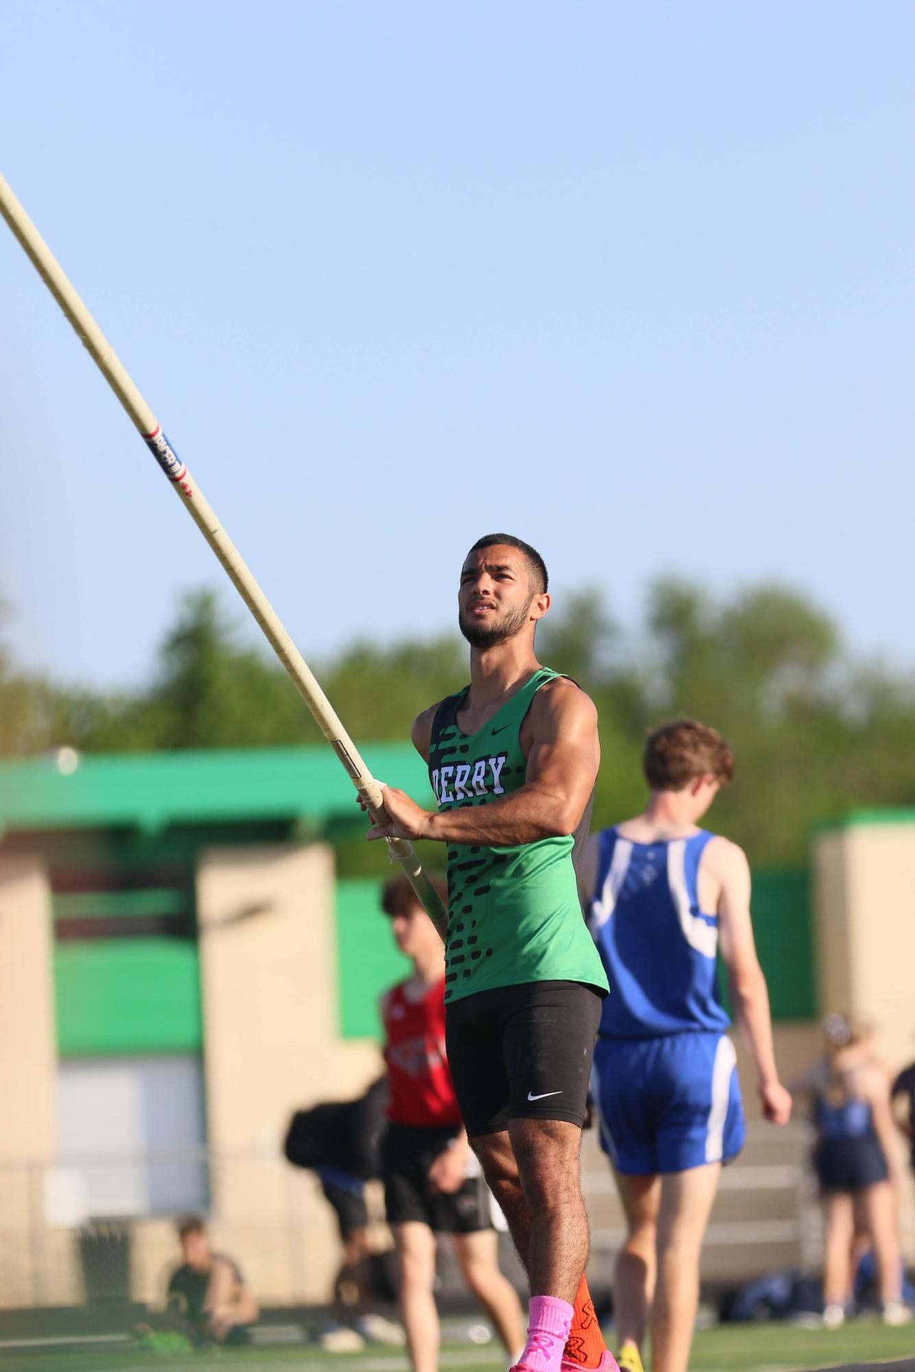
{"type": "MultiPolygon", "coordinates": [[[[3,30],[1,170],[306,657],[450,626],[502,527],[624,623],[776,578],[915,659],[915,7],[3,30]]],[[[1,225],[0,456],[15,657],[143,681],[222,572],[1,225]]]]}

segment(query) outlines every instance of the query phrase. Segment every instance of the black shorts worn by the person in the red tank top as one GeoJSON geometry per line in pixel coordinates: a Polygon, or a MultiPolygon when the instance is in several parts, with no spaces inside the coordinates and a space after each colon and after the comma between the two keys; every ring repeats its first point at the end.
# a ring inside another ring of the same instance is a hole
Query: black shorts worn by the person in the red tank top
{"type": "Polygon", "coordinates": [[[388,1224],[417,1220],[435,1233],[476,1233],[492,1228],[490,1190],[482,1174],[468,1177],[460,1191],[447,1194],[429,1184],[429,1168],[457,1132],[412,1124],[387,1126],[381,1136],[381,1177],[388,1224]]]}

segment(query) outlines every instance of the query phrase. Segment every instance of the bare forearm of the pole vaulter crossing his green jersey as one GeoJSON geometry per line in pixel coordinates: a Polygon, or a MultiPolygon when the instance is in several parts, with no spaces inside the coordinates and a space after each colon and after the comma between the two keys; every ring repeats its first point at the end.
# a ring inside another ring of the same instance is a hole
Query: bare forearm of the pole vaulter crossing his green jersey
{"type": "Polygon", "coordinates": [[[582,818],[575,800],[531,782],[488,805],[431,814],[425,838],[446,844],[513,848],[572,834],[582,818]]]}

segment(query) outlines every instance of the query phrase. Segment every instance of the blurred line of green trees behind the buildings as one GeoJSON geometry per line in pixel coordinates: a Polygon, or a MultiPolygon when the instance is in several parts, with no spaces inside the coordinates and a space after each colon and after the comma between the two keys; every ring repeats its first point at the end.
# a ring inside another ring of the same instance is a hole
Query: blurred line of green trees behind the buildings
{"type": "MultiPolygon", "coordinates": [[[[285,672],[241,643],[239,622],[213,593],[187,595],[151,682],[122,691],[25,672],[0,646],[0,756],[63,744],[134,753],[318,742],[285,672]]],[[[624,631],[601,590],[583,589],[560,597],[538,653],[598,707],[598,825],[642,807],[645,734],[675,715],[713,724],[731,744],[735,778],[712,822],[754,864],[803,863],[815,826],[849,809],[915,805],[915,678],[856,657],[835,622],[794,590],[759,584],[717,598],[661,579],[639,626],[624,631]]],[[[317,675],[358,742],[405,741],[420,709],[466,681],[466,645],[457,632],[357,642],[317,675]]]]}

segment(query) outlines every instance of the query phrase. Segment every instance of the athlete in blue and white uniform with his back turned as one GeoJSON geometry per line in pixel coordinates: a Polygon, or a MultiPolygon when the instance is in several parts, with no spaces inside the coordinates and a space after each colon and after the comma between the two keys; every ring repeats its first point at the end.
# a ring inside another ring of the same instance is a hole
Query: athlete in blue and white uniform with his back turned
{"type": "Polygon", "coordinates": [[[650,1310],[653,1372],[685,1372],[702,1235],[722,1165],[745,1136],[730,1019],[716,993],[719,947],[765,1118],[786,1124],[792,1098],[775,1069],[746,858],[698,827],[731,778],[731,750],[713,729],[685,719],[649,737],[643,767],[645,812],[594,834],[582,864],[610,982],[593,1091],[628,1231],[616,1264],[620,1367],[641,1372],[650,1310]]]}

